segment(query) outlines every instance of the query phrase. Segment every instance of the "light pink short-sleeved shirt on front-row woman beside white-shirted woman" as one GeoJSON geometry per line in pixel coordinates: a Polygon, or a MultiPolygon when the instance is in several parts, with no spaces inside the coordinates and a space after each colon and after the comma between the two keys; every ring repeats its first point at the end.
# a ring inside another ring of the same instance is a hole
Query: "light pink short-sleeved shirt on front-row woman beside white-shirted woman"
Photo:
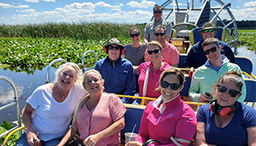
{"type": "MultiPolygon", "coordinates": [[[[73,126],[79,128],[80,138],[85,139],[90,135],[102,132],[102,130],[111,126],[113,122],[119,121],[125,115],[125,111],[125,106],[117,95],[104,93],[93,110],[88,110],[86,104],[81,107],[77,121],[73,123],[73,126]]],[[[102,139],[96,145],[119,146],[120,132],[102,139]]]]}

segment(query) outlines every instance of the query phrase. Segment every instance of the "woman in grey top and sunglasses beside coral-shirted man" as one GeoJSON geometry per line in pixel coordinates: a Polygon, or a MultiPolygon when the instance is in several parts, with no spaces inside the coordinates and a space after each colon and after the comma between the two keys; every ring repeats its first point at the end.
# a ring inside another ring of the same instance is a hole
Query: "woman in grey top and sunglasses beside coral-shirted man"
{"type": "Polygon", "coordinates": [[[129,29],[129,36],[131,37],[131,43],[125,44],[125,53],[123,58],[131,61],[132,65],[141,65],[145,62],[144,53],[147,49],[147,44],[141,41],[141,31],[133,26],[129,29]]]}

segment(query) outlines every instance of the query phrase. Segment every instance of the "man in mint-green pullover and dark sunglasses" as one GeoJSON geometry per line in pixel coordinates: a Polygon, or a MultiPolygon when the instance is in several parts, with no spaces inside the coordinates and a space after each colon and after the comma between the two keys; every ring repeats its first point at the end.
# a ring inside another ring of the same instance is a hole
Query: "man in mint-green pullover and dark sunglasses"
{"type": "MultiPolygon", "coordinates": [[[[207,62],[195,70],[189,87],[189,98],[195,102],[207,103],[210,101],[210,97],[206,92],[211,92],[211,86],[218,81],[219,77],[227,71],[237,70],[241,72],[241,69],[238,65],[230,63],[230,60],[220,53],[222,47],[218,44],[218,38],[207,38],[202,42],[202,48],[207,56],[207,62]]],[[[246,98],[247,91],[243,76],[241,79],[243,86],[238,101],[242,103],[246,98]]]]}

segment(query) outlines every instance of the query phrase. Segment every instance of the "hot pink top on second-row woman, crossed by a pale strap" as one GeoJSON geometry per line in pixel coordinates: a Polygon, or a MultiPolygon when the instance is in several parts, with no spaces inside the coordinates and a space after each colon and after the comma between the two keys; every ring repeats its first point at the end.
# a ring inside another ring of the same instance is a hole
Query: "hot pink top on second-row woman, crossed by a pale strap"
{"type": "MultiPolygon", "coordinates": [[[[164,61],[164,60],[163,60],[164,61]]],[[[147,68],[149,67],[149,76],[148,76],[148,88],[147,88],[147,93],[145,97],[148,98],[158,98],[160,96],[160,91],[155,91],[157,87],[159,87],[159,79],[164,70],[167,68],[170,68],[172,66],[168,65],[166,61],[164,61],[164,65],[160,70],[155,70],[154,75],[152,75],[152,64],[151,62],[144,62],[143,64],[139,65],[137,67],[137,70],[140,74],[138,77],[138,85],[139,85],[139,96],[143,96],[143,86],[144,86],[144,81],[145,81],[145,76],[147,72],[147,68]]]]}

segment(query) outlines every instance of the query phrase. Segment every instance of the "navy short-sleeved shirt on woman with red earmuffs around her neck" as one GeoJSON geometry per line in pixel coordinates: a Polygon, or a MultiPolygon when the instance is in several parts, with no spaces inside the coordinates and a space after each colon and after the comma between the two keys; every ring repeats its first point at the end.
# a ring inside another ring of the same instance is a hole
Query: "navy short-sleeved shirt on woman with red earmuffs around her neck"
{"type": "Polygon", "coordinates": [[[197,121],[206,124],[206,142],[218,146],[247,146],[247,128],[256,126],[256,110],[236,102],[236,111],[230,123],[220,128],[215,124],[215,117],[209,104],[201,105],[197,112],[197,121]]]}

